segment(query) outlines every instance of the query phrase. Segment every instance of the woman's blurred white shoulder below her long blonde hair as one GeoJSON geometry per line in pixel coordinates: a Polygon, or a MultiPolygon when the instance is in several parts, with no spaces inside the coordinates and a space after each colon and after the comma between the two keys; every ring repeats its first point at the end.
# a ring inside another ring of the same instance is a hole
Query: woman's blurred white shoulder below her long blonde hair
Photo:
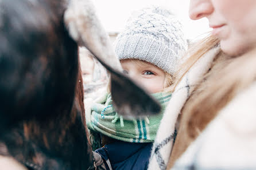
{"type": "Polygon", "coordinates": [[[255,169],[255,97],[253,82],[220,110],[173,169],[255,169]]]}

